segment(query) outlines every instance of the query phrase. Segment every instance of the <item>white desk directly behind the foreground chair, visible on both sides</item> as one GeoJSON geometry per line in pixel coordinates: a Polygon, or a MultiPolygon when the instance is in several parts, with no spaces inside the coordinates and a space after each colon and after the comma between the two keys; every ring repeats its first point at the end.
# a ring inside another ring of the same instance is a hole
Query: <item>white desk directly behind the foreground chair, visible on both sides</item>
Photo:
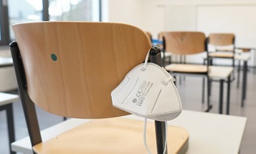
{"type": "MultiPolygon", "coordinates": [[[[134,115],[125,117],[143,120],[134,115]]],[[[42,139],[51,139],[66,130],[88,121],[87,119],[68,119],[41,131],[42,139]]],[[[239,153],[241,139],[245,131],[246,118],[183,110],[177,119],[173,119],[168,123],[173,126],[186,128],[189,131],[189,147],[186,154],[237,154],[239,153]]],[[[15,141],[11,144],[11,148],[15,152],[32,154],[28,137],[15,141]]]]}

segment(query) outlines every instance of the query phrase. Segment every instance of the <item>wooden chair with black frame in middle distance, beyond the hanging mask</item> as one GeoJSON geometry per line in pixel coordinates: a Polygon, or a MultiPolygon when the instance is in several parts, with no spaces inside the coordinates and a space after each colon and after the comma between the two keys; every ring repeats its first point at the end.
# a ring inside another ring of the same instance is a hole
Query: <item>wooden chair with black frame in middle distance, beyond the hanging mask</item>
{"type": "MultiPolygon", "coordinates": [[[[198,53],[206,53],[206,36],[202,32],[189,32],[189,31],[166,31],[164,32],[164,52],[171,52],[172,55],[188,56],[198,53]]],[[[207,63],[208,65],[208,63],[207,63]]],[[[210,78],[208,76],[207,65],[188,65],[186,63],[180,63],[179,61],[172,62],[171,65],[165,66],[165,69],[170,73],[178,75],[194,74],[203,75],[207,77],[207,83],[209,84],[210,78]]],[[[209,87],[207,84],[207,87],[209,87]]],[[[211,110],[211,103],[209,99],[210,89],[207,88],[207,110],[211,110]]],[[[203,94],[204,96],[204,94],[203,94]]],[[[204,98],[203,98],[204,99],[204,98]]]]}

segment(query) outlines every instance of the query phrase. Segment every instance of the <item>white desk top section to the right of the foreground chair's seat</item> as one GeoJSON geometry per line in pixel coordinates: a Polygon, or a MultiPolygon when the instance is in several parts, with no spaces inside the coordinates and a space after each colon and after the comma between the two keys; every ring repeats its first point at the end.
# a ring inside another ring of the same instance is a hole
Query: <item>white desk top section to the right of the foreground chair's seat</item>
{"type": "Polygon", "coordinates": [[[245,131],[245,117],[184,110],[169,124],[189,131],[186,154],[237,154],[245,131]]]}

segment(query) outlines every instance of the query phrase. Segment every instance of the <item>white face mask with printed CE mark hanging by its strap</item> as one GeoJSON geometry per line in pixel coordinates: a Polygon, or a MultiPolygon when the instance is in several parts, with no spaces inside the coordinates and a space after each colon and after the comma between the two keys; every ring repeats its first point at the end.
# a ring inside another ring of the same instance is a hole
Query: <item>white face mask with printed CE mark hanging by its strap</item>
{"type": "MultiPolygon", "coordinates": [[[[124,80],[111,92],[113,106],[145,118],[146,148],[147,119],[164,121],[167,134],[166,121],[175,119],[182,110],[181,98],[173,83],[175,79],[159,65],[147,63],[148,56],[149,52],[145,63],[127,73],[124,80]]],[[[151,153],[148,148],[147,151],[151,153]]]]}

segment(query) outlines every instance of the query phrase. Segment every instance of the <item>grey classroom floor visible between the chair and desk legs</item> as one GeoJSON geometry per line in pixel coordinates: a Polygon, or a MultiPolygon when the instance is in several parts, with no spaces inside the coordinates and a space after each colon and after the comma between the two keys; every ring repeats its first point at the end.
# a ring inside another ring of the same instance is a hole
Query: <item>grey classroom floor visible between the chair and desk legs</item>
{"type": "MultiPolygon", "coordinates": [[[[256,151],[256,69],[250,68],[248,71],[248,85],[247,85],[247,98],[245,106],[241,108],[241,85],[237,89],[237,81],[233,81],[231,85],[231,105],[230,114],[237,116],[247,117],[247,125],[245,127],[245,134],[241,142],[241,154],[253,154],[256,151]],[[255,95],[254,95],[255,94],[255,95]]],[[[201,77],[183,77],[181,80],[177,78],[177,89],[181,95],[181,101],[185,110],[198,110],[203,111],[206,105],[202,104],[202,78],[201,77]],[[181,81],[181,83],[180,83],[181,81]]],[[[219,84],[214,82],[212,84],[211,103],[213,105],[211,113],[218,113],[219,102],[219,84]]],[[[225,94],[224,87],[224,94],[225,94]]],[[[15,90],[11,93],[17,93],[15,90]]],[[[224,96],[225,97],[225,96],[224,96]]],[[[225,100],[224,100],[225,101],[225,100]]],[[[15,114],[15,138],[21,139],[28,135],[26,123],[23,116],[23,110],[20,102],[14,104],[15,114]]],[[[40,119],[40,127],[52,126],[54,123],[62,121],[62,117],[53,114],[48,114],[44,110],[36,109],[38,118],[40,119]]],[[[225,108],[224,108],[225,110],[225,108]]],[[[236,128],[234,128],[236,129],[236,128]]],[[[207,130],[211,133],[214,130],[207,130]]],[[[0,153],[8,154],[8,138],[6,131],[6,113],[0,112],[0,153]]]]}

